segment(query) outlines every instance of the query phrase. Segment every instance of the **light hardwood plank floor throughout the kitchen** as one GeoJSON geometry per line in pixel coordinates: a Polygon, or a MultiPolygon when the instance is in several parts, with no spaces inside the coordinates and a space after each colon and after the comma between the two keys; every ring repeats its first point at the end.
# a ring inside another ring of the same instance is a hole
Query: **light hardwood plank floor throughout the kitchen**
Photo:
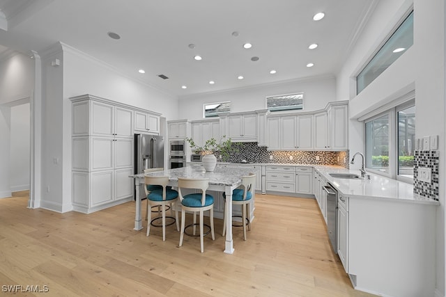
{"type": "Polygon", "coordinates": [[[47,286],[15,296],[371,296],[355,291],[332,252],[316,200],[256,195],[256,218],[233,255],[215,241],[167,227],[132,230],[134,202],[93,214],[27,209],[27,193],[0,199],[0,295],[7,285],[47,286]]]}

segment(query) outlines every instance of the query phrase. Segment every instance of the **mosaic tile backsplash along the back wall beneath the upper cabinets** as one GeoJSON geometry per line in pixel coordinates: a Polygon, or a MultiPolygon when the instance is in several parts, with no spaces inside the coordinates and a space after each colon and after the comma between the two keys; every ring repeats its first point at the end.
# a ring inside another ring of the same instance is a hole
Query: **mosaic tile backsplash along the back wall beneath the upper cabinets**
{"type": "Polygon", "coordinates": [[[257,143],[238,145],[240,145],[238,152],[231,154],[227,162],[240,163],[245,159],[249,163],[339,165],[348,168],[348,152],[268,151],[266,147],[259,147],[257,143]]]}

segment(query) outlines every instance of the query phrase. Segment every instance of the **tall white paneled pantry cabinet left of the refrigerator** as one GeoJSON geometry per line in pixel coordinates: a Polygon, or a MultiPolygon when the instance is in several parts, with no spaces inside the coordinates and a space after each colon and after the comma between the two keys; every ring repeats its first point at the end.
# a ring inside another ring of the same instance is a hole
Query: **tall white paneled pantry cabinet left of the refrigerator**
{"type": "Polygon", "coordinates": [[[73,209],[89,214],[133,200],[134,109],[92,95],[70,99],[73,209]]]}

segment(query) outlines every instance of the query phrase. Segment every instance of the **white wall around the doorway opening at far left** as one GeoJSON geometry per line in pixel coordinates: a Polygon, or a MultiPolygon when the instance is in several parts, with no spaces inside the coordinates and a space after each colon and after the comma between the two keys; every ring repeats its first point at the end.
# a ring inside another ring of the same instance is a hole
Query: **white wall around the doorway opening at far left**
{"type": "Polygon", "coordinates": [[[0,61],[0,198],[11,193],[10,109],[15,102],[31,96],[33,71],[33,60],[23,54],[15,53],[0,61]]]}

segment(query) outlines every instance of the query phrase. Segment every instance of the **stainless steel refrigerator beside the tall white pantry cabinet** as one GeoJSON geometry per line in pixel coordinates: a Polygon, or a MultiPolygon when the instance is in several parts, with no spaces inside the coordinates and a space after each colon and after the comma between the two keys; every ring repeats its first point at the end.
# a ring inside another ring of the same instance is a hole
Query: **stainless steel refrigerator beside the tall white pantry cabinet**
{"type": "MultiPolygon", "coordinates": [[[[134,134],[134,173],[144,173],[144,169],[158,167],[164,168],[164,137],[134,134]]],[[[139,186],[139,195],[146,198],[144,184],[139,186]]]]}

